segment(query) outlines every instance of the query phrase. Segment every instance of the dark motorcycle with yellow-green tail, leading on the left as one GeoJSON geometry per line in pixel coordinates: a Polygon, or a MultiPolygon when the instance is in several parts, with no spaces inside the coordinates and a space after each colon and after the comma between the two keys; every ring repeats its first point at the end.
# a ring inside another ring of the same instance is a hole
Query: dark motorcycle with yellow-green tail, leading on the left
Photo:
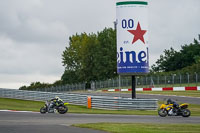
{"type": "Polygon", "coordinates": [[[60,114],[65,114],[68,111],[68,107],[67,104],[68,103],[59,103],[59,104],[53,104],[53,106],[51,105],[52,101],[46,101],[45,105],[43,107],[40,108],[40,113],[41,114],[45,114],[45,113],[60,113],[60,114]],[[52,107],[50,107],[52,106],[52,107]]]}

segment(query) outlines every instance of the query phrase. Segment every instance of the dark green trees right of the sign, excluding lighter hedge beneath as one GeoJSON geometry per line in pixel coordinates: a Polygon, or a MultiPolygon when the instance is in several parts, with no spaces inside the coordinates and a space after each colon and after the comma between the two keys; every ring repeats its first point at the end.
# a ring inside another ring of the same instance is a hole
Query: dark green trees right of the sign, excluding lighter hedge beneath
{"type": "Polygon", "coordinates": [[[169,72],[191,66],[199,61],[200,44],[194,39],[194,43],[181,46],[179,52],[173,48],[164,51],[164,55],[152,65],[153,72],[169,72]]]}

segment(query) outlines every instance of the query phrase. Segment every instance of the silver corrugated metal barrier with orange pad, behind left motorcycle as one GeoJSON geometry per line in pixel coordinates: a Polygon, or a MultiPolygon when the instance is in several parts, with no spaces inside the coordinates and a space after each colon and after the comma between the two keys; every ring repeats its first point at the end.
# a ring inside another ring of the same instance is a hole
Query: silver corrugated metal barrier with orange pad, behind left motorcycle
{"type": "Polygon", "coordinates": [[[24,91],[16,89],[0,89],[0,97],[23,100],[46,101],[59,96],[65,102],[75,105],[90,104],[90,108],[109,110],[156,110],[157,99],[128,99],[121,97],[88,96],[81,94],[52,93],[40,91],[24,91]],[[91,98],[88,100],[88,98],[91,98]],[[90,101],[90,103],[88,103],[90,101]]]}

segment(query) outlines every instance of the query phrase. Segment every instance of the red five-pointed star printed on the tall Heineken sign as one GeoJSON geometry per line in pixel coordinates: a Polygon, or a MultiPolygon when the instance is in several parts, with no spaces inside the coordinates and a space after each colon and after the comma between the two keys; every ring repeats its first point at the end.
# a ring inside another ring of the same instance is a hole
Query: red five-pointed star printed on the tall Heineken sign
{"type": "Polygon", "coordinates": [[[138,22],[138,25],[137,25],[137,28],[136,30],[128,30],[128,32],[130,32],[131,34],[134,35],[134,38],[133,38],[133,41],[132,41],[132,44],[134,42],[136,42],[137,40],[141,40],[144,44],[144,34],[147,32],[146,30],[141,30],[141,27],[140,27],[140,23],[138,22]]]}

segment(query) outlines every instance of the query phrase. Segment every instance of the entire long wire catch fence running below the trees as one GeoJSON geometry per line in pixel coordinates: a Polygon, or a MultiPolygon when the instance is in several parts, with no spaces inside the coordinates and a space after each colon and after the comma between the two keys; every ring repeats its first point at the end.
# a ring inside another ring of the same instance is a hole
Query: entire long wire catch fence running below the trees
{"type": "MultiPolygon", "coordinates": [[[[120,78],[108,79],[105,81],[92,81],[90,85],[86,83],[80,84],[66,84],[60,86],[52,86],[49,88],[30,89],[30,91],[43,92],[72,92],[81,90],[99,90],[99,89],[116,89],[116,88],[130,88],[132,84],[131,76],[121,76],[120,78]],[[86,88],[86,86],[88,88],[86,88]],[[90,87],[89,87],[90,86],[90,87]]],[[[154,87],[187,87],[200,86],[200,74],[171,74],[171,75],[150,75],[150,76],[136,76],[137,88],[154,88],[154,87]]]]}

